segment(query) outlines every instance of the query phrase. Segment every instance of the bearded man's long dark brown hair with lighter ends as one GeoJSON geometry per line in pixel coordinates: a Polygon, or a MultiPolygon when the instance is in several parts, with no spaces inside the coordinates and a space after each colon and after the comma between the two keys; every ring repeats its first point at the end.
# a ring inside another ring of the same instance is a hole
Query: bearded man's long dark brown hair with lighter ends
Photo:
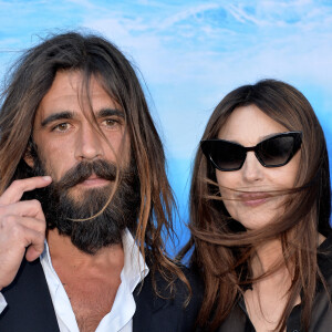
{"type": "MultiPolygon", "coordinates": [[[[22,158],[33,144],[35,112],[58,71],[81,72],[82,92],[87,95],[91,79],[96,79],[122,107],[141,190],[134,237],[142,255],[148,253],[153,273],[159,271],[169,281],[176,277],[186,280],[168,258],[163,241],[163,236],[173,236],[175,201],[166,177],[160,138],[135,71],[104,38],[77,32],[52,35],[25,51],[15,63],[1,97],[0,194],[11,181],[27,174],[22,158]]],[[[117,155],[121,162],[120,157],[117,155]]]]}

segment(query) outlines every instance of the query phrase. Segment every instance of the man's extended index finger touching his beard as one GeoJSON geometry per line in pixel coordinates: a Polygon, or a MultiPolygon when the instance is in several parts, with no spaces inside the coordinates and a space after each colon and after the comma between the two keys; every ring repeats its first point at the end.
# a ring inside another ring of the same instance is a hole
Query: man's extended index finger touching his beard
{"type": "Polygon", "coordinates": [[[24,179],[14,180],[1,195],[0,205],[8,205],[19,201],[25,191],[43,188],[50,185],[50,176],[35,176],[24,179]]]}

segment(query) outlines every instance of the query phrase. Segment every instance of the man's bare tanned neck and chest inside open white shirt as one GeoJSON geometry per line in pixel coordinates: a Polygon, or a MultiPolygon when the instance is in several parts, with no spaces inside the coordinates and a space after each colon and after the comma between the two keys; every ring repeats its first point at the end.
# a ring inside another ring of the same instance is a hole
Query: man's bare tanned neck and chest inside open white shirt
{"type": "Polygon", "coordinates": [[[52,266],[71,302],[80,331],[95,331],[113,307],[124,267],[122,245],[102,248],[95,255],[77,249],[69,237],[50,230],[52,266]]]}

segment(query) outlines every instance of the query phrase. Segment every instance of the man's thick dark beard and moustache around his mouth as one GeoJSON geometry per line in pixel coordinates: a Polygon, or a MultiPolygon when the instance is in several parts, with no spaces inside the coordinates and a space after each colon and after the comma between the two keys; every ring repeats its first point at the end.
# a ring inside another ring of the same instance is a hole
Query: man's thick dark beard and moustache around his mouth
{"type": "MultiPolygon", "coordinates": [[[[32,176],[41,175],[46,175],[45,167],[35,156],[32,176]]],[[[59,181],[35,189],[28,194],[30,197],[24,198],[34,198],[41,203],[48,229],[56,228],[60,235],[70,237],[76,248],[94,255],[101,248],[121,243],[125,228],[131,231],[135,229],[141,194],[133,160],[126,169],[120,169],[118,186],[107,204],[115,178],[116,166],[112,163],[103,159],[81,162],[69,169],[59,181]],[[111,184],[101,188],[82,189],[73,197],[71,189],[92,174],[110,180],[111,184]]]]}

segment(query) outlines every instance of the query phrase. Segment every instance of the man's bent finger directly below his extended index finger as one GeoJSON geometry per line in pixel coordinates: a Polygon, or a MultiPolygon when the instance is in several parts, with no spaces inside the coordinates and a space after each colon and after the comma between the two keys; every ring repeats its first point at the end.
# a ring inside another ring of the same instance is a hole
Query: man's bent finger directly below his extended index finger
{"type": "Polygon", "coordinates": [[[42,206],[37,199],[21,200],[14,204],[0,206],[0,218],[11,215],[21,217],[32,217],[40,220],[45,220],[42,206]]]}

